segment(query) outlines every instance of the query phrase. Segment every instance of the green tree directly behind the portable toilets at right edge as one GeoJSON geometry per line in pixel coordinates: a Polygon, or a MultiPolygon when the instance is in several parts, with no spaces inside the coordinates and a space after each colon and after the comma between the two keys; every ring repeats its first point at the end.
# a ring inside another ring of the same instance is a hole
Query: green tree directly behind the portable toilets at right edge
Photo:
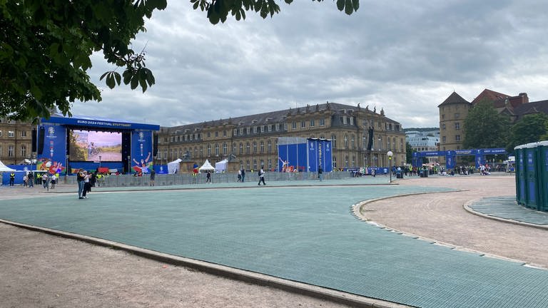
{"type": "Polygon", "coordinates": [[[534,113],[519,119],[510,128],[507,151],[512,153],[517,145],[542,140],[542,137],[548,134],[547,125],[546,113],[534,113]]]}

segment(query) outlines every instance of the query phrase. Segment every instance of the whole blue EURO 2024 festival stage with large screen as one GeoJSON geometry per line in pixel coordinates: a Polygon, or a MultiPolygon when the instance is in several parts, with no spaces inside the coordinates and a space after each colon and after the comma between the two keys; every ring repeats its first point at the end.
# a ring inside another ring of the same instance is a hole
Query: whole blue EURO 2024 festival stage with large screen
{"type": "Polygon", "coordinates": [[[160,125],[54,114],[36,130],[37,170],[61,175],[79,169],[101,173],[148,173],[160,125]]]}

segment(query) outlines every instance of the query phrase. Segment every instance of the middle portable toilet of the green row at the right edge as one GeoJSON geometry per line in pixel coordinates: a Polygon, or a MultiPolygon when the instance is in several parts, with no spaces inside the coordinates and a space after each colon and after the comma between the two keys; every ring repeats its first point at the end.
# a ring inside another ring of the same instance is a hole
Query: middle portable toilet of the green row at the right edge
{"type": "Polygon", "coordinates": [[[537,180],[537,160],[538,160],[537,143],[528,143],[524,145],[525,158],[525,206],[537,210],[540,204],[540,192],[537,180]]]}

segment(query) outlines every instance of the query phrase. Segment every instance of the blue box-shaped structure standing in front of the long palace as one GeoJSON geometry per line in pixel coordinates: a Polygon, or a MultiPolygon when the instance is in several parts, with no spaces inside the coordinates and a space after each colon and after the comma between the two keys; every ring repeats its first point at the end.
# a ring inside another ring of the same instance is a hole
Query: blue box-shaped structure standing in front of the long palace
{"type": "Polygon", "coordinates": [[[279,137],[279,172],[333,171],[331,140],[318,138],[279,137]]]}

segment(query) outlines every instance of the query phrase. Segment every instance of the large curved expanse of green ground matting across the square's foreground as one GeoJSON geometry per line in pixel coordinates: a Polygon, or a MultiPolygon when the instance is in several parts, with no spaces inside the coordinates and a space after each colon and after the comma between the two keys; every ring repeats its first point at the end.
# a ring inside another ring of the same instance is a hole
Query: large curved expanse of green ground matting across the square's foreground
{"type": "Polygon", "coordinates": [[[1,200],[0,217],[414,307],[548,307],[547,270],[432,245],[350,211],[363,200],[447,190],[250,186],[92,192],[86,200],[75,193],[1,200]]]}

